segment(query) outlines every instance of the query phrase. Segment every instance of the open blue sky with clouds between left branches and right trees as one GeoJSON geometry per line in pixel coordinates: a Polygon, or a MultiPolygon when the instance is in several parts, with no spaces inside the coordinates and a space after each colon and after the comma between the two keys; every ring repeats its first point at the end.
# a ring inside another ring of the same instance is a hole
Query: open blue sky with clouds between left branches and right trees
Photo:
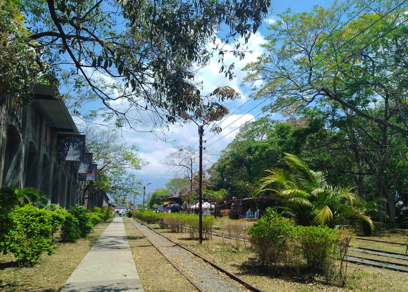
{"type": "MultiPolygon", "coordinates": [[[[273,1],[273,0],[272,0],[273,1]]],[[[262,24],[261,29],[251,37],[249,41],[249,47],[253,51],[252,54],[247,54],[242,61],[233,59],[232,56],[226,56],[226,61],[235,62],[235,74],[236,78],[233,81],[229,81],[223,74],[219,74],[218,59],[213,60],[209,66],[203,68],[200,71],[200,78],[203,81],[202,93],[206,94],[213,91],[218,86],[231,86],[235,90],[239,91],[242,95],[240,100],[226,103],[226,106],[230,108],[230,115],[221,121],[221,128],[223,129],[220,134],[214,135],[209,132],[209,127],[205,127],[204,140],[207,142],[204,144],[207,151],[207,157],[211,161],[216,161],[219,157],[221,150],[225,149],[227,144],[230,143],[238,129],[242,124],[247,121],[253,121],[254,117],[261,113],[262,101],[248,101],[250,94],[249,87],[240,86],[242,78],[245,76],[245,72],[241,69],[243,66],[255,60],[262,51],[260,44],[264,42],[264,38],[268,35],[267,26],[277,19],[277,14],[286,11],[288,8],[293,13],[311,11],[314,5],[321,5],[328,7],[329,1],[273,1],[271,6],[271,13],[269,13],[267,19],[262,24]],[[248,102],[247,102],[248,101],[248,102]],[[245,104],[245,102],[247,102],[245,104]]],[[[262,114],[260,115],[262,116],[262,114]]],[[[278,116],[277,116],[278,118],[278,116]]],[[[161,163],[167,155],[175,151],[178,144],[192,147],[194,145],[198,153],[198,133],[197,125],[194,123],[185,124],[183,126],[172,126],[169,134],[173,142],[164,142],[162,140],[155,139],[150,133],[138,133],[134,131],[123,132],[123,137],[128,143],[135,143],[138,145],[140,156],[149,162],[144,166],[142,170],[136,171],[137,177],[146,186],[146,195],[155,189],[159,189],[165,186],[165,184],[174,177],[184,177],[184,169],[176,167],[167,167],[161,163]]],[[[132,195],[133,197],[133,195],[132,195]]],[[[142,202],[142,196],[136,198],[136,203],[142,202]]]]}

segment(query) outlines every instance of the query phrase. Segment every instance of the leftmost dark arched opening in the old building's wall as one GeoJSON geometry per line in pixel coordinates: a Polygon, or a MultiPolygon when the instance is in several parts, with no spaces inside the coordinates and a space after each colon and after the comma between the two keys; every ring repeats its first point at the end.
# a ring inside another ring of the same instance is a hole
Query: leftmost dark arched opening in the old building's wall
{"type": "Polygon", "coordinates": [[[20,133],[15,126],[9,125],[7,128],[6,155],[3,168],[3,186],[13,182],[21,184],[21,147],[20,133]]]}

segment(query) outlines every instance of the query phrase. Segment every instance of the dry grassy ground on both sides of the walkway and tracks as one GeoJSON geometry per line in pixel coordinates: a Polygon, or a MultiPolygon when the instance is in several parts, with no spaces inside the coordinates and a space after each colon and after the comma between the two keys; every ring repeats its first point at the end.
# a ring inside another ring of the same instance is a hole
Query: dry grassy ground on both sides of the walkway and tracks
{"type": "MultiPolygon", "coordinates": [[[[135,258],[137,270],[143,287],[150,291],[196,291],[165,258],[134,227],[129,219],[124,218],[127,236],[135,258]]],[[[57,253],[52,256],[43,255],[38,264],[32,267],[13,265],[12,255],[0,255],[0,290],[5,292],[57,292],[61,289],[72,271],[97,241],[108,224],[99,224],[86,239],[77,243],[57,244],[57,253]]],[[[349,264],[348,279],[345,287],[327,284],[324,281],[304,281],[292,275],[277,275],[273,270],[259,268],[253,264],[255,254],[235,241],[223,241],[213,237],[201,245],[190,240],[186,233],[172,233],[159,229],[176,242],[202,254],[206,258],[235,273],[245,281],[264,291],[379,291],[405,292],[408,286],[407,273],[349,264]]],[[[403,230],[382,231],[370,239],[405,243],[408,239],[403,230]]],[[[354,246],[364,246],[403,253],[404,246],[384,245],[362,240],[355,240],[354,246]],[[381,245],[381,246],[380,246],[381,245]]],[[[114,269],[112,265],[112,269],[114,269]]]]}

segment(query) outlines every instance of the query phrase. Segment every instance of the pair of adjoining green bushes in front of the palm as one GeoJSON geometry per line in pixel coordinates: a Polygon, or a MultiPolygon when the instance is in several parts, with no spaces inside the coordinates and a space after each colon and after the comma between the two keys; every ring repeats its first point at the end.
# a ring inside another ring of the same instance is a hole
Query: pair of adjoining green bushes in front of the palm
{"type": "MultiPolygon", "coordinates": [[[[262,265],[282,266],[291,270],[309,271],[332,278],[344,276],[336,271],[335,260],[347,252],[352,230],[335,230],[321,226],[294,226],[293,221],[268,209],[261,219],[248,229],[252,248],[262,265]],[[347,242],[346,250],[344,250],[347,242]],[[304,269],[302,269],[304,268],[304,269]]],[[[340,265],[343,269],[343,266],[340,265]]]]}

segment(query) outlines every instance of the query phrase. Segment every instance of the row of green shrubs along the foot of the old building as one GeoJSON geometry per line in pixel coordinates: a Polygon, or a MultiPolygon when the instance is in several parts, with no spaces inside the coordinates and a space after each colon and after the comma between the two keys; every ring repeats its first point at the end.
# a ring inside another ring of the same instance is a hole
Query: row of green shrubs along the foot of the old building
{"type": "Polygon", "coordinates": [[[55,252],[60,230],[61,241],[85,238],[93,227],[112,217],[108,207],[87,210],[71,207],[68,211],[39,209],[32,203],[22,205],[18,193],[0,188],[0,251],[13,253],[20,264],[35,264],[42,253],[55,252]],[[89,212],[90,211],[90,212],[89,212]]]}

